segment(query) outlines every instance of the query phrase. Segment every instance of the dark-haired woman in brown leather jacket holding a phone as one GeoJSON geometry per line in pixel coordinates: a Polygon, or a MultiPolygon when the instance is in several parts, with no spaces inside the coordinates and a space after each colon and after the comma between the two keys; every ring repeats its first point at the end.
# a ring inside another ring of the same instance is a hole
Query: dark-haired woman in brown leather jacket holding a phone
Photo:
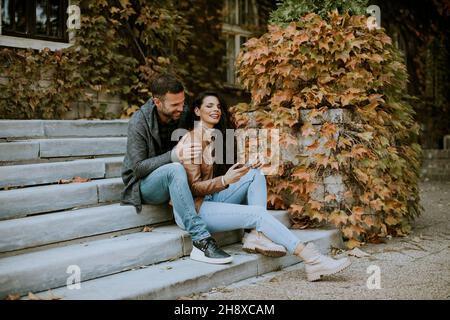
{"type": "MultiPolygon", "coordinates": [[[[183,166],[195,197],[197,212],[208,230],[214,233],[256,229],[261,236],[302,258],[309,281],[319,280],[322,275],[335,274],[348,267],[348,258],[335,260],[320,254],[313,243],[304,245],[267,212],[266,180],[259,170],[259,163],[251,167],[234,164],[225,174],[219,174],[220,166],[214,163],[212,154],[212,141],[214,129],[224,130],[227,121],[226,109],[220,97],[213,92],[202,93],[195,99],[192,109],[198,122],[183,139],[184,143],[200,141],[203,156],[193,163],[183,163],[183,166]]],[[[199,254],[197,251],[200,250],[194,248],[191,252],[194,260],[199,254]]]]}

